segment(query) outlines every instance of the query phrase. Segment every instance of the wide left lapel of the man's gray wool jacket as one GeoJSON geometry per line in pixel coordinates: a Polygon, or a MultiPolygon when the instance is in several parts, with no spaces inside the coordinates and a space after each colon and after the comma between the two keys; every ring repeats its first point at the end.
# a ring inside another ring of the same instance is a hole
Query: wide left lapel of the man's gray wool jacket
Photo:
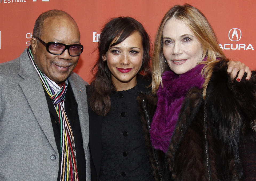
{"type": "Polygon", "coordinates": [[[43,133],[48,139],[50,145],[58,154],[58,149],[53,133],[53,127],[51,124],[50,113],[45,98],[45,93],[43,91],[42,83],[26,51],[27,50],[25,50],[20,57],[19,75],[24,80],[19,83],[19,86],[21,87],[43,133]]]}

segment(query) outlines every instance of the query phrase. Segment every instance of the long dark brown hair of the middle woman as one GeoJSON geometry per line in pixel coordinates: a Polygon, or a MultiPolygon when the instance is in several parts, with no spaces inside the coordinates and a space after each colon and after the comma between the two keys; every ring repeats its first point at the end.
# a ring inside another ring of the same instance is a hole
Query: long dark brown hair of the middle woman
{"type": "Polygon", "coordinates": [[[111,72],[107,67],[107,61],[103,61],[102,57],[106,55],[109,47],[115,46],[125,40],[134,32],[139,32],[142,37],[143,60],[139,73],[150,76],[150,39],[141,23],[131,17],[118,17],[111,19],[102,29],[98,51],[99,57],[95,63],[92,72],[94,75],[91,82],[90,106],[92,110],[101,116],[106,116],[110,110],[110,93],[116,91],[111,81],[111,72]],[[117,40],[111,44],[111,42],[117,40]],[[111,44],[111,45],[110,45],[111,44]]]}

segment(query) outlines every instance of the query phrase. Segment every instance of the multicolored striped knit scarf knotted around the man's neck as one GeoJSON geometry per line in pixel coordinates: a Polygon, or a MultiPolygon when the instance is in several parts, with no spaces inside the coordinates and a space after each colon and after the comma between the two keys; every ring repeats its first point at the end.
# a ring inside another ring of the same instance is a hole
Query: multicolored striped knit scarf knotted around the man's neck
{"type": "Polygon", "coordinates": [[[61,90],[55,94],[53,88],[48,84],[45,75],[39,70],[35,64],[31,47],[27,49],[29,58],[34,65],[38,76],[41,80],[43,87],[53,101],[54,106],[56,106],[56,111],[59,117],[59,124],[61,127],[61,180],[67,181],[78,180],[77,174],[77,158],[75,154],[75,142],[73,137],[73,132],[69,124],[69,119],[67,118],[66,112],[63,107],[63,101],[65,98],[65,93],[67,91],[67,84],[69,79],[67,79],[61,90]]]}

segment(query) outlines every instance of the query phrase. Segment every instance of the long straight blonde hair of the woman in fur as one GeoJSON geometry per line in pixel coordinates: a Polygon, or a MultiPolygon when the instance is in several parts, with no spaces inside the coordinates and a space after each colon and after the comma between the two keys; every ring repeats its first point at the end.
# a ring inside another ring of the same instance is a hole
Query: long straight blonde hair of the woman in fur
{"type": "Polygon", "coordinates": [[[219,47],[217,37],[206,17],[201,11],[189,4],[172,7],[167,11],[158,28],[152,57],[152,92],[156,93],[160,84],[163,86],[162,73],[166,70],[170,70],[168,64],[165,63],[165,57],[163,55],[163,27],[166,21],[171,18],[176,18],[184,22],[202,44],[203,55],[201,60],[207,56],[207,61],[200,62],[200,64],[206,64],[203,69],[205,76],[203,96],[205,98],[206,87],[211,77],[211,69],[215,63],[219,61],[218,59],[216,60],[216,58],[224,58],[225,55],[219,47]]]}

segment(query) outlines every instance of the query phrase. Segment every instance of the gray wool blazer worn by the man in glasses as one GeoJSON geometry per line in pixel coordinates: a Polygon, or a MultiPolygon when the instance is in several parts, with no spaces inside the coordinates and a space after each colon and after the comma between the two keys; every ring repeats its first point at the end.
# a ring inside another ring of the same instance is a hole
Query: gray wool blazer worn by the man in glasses
{"type": "MultiPolygon", "coordinates": [[[[76,73],[69,83],[78,104],[89,181],[87,83],[76,73]]],[[[57,180],[58,171],[59,154],[45,93],[26,49],[19,58],[0,64],[0,180],[57,180]]]]}

